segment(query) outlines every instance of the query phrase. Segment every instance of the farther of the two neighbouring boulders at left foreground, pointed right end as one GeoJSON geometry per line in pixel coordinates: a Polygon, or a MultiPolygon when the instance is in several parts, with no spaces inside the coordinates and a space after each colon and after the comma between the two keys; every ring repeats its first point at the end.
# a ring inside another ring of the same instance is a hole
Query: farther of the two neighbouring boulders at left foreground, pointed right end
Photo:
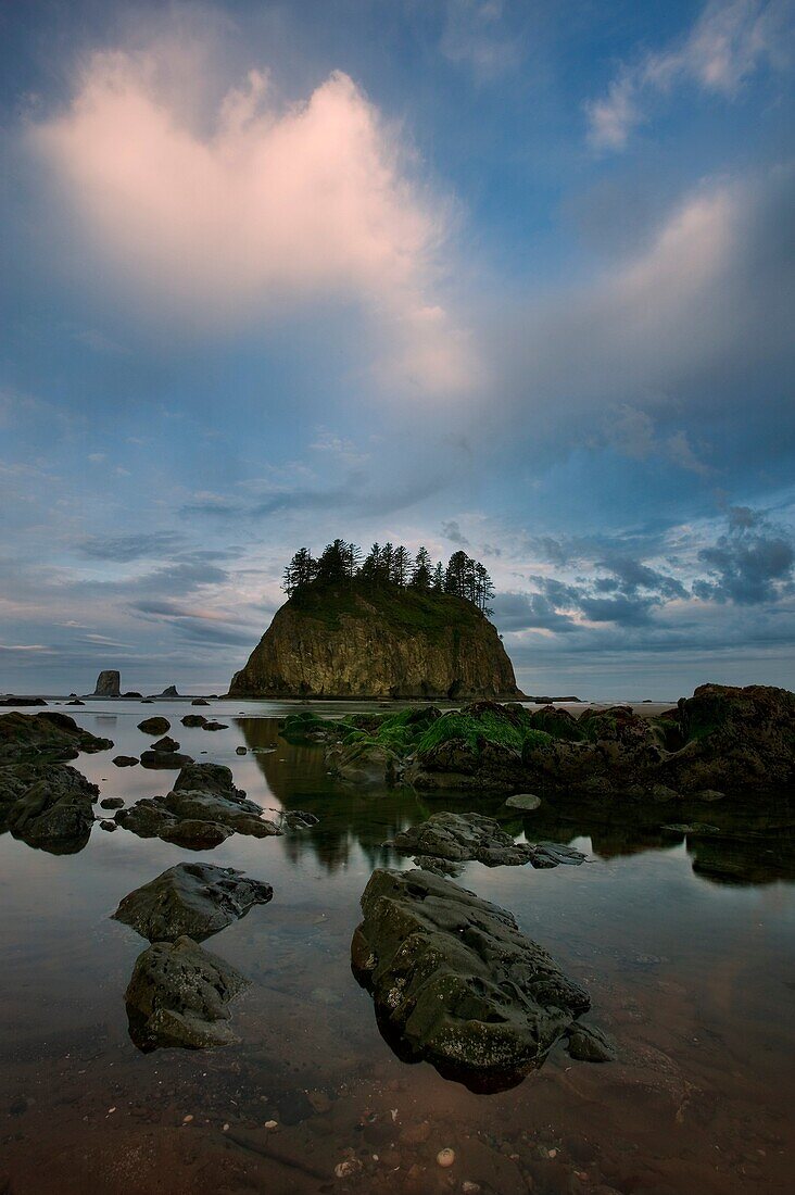
{"type": "Polygon", "coordinates": [[[183,934],[202,942],[273,895],[270,884],[233,868],[178,863],[126,896],[114,918],[149,942],[173,942],[183,934]]]}

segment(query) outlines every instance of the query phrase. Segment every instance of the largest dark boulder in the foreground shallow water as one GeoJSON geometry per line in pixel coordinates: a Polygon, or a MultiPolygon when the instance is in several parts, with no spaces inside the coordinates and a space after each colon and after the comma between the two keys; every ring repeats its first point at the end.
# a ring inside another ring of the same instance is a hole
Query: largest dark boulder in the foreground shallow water
{"type": "Polygon", "coordinates": [[[450,1078],[518,1083],[591,1006],[510,913],[450,880],[379,869],[361,906],[351,963],[381,1032],[450,1078]]]}

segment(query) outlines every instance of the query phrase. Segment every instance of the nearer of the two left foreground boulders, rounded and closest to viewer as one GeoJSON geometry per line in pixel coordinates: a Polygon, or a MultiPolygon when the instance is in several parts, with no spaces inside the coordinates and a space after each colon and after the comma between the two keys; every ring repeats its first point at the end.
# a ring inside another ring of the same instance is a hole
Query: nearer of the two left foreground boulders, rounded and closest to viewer
{"type": "Polygon", "coordinates": [[[227,1004],[249,980],[190,938],[157,942],[139,956],[126,1001],[130,1037],[140,1049],[204,1049],[238,1041],[227,1004]]]}

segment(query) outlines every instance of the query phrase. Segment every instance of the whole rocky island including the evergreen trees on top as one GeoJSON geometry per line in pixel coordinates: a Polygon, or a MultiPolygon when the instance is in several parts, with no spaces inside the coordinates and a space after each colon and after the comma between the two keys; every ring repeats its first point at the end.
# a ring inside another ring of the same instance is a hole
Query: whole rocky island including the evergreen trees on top
{"type": "Polygon", "coordinates": [[[513,666],[489,621],[489,575],[464,552],[446,570],[424,550],[335,540],[314,560],[302,549],[286,570],[288,600],[236,673],[230,697],[521,697],[513,666]]]}

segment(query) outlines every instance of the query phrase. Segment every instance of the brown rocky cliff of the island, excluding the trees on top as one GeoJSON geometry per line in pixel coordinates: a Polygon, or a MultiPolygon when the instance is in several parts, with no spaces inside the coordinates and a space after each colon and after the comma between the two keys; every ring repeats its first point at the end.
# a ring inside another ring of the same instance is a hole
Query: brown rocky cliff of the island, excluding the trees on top
{"type": "Polygon", "coordinates": [[[230,695],[464,700],[520,692],[495,627],[471,602],[390,586],[291,599],[230,695]]]}

